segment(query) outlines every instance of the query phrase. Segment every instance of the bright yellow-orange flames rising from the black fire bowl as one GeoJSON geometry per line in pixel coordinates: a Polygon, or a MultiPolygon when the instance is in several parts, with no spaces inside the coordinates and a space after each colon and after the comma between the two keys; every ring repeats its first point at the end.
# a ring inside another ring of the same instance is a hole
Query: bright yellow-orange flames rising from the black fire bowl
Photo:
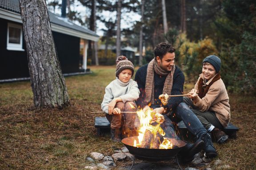
{"type": "MultiPolygon", "coordinates": [[[[157,133],[162,136],[165,135],[164,130],[160,127],[160,124],[163,123],[164,121],[164,116],[159,113],[153,112],[152,110],[153,109],[149,109],[144,112],[142,109],[140,109],[137,111],[137,115],[140,120],[140,128],[138,130],[138,133],[139,133],[138,140],[134,140],[133,142],[134,147],[141,146],[146,130],[152,133],[154,139],[156,138],[157,133]],[[153,122],[152,119],[154,116],[156,116],[156,120],[155,120],[156,123],[152,125],[152,122],[153,122]]],[[[153,141],[154,140],[151,140],[150,148],[152,147],[153,141]]],[[[159,149],[170,149],[170,148],[172,148],[171,141],[168,140],[167,138],[164,138],[164,141],[160,144],[159,149]]]]}

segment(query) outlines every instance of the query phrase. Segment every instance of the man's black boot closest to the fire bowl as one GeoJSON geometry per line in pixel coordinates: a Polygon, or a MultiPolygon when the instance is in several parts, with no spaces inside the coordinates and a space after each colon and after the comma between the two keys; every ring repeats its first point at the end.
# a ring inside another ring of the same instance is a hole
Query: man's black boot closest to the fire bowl
{"type": "Polygon", "coordinates": [[[198,139],[195,143],[187,143],[186,146],[179,152],[179,157],[183,163],[191,162],[194,155],[204,148],[204,141],[198,139]]]}

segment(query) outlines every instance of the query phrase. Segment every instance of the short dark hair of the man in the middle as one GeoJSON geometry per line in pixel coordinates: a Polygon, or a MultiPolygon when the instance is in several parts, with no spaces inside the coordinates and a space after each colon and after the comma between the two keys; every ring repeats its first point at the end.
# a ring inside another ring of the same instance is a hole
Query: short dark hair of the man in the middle
{"type": "Polygon", "coordinates": [[[162,58],[166,53],[174,53],[174,52],[175,52],[175,48],[173,48],[171,44],[168,44],[166,42],[161,42],[157,44],[156,47],[154,48],[155,59],[157,56],[159,56],[159,58],[162,60],[162,58]]]}

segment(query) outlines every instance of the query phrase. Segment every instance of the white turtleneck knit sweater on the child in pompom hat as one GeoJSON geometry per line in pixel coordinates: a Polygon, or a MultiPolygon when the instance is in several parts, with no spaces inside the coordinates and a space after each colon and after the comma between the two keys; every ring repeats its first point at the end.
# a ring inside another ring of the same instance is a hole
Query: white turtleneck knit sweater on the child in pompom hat
{"type": "Polygon", "coordinates": [[[140,90],[136,81],[130,79],[123,83],[118,78],[109,83],[105,89],[104,99],[101,103],[101,109],[108,113],[108,104],[116,97],[120,97],[123,102],[134,101],[139,98],[140,90]]]}

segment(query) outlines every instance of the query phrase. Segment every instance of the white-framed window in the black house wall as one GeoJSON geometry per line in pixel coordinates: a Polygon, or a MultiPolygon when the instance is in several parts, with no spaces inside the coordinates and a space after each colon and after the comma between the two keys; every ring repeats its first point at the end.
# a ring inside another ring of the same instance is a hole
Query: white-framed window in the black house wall
{"type": "Polygon", "coordinates": [[[8,23],[7,50],[24,51],[24,49],[22,49],[22,26],[21,25],[8,23]]]}

